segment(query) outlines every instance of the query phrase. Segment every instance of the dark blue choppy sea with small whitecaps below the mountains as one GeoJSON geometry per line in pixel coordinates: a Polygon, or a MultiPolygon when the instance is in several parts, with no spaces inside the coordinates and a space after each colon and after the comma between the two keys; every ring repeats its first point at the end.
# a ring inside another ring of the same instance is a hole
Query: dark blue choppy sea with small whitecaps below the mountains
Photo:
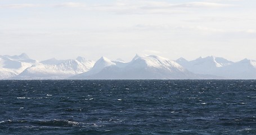
{"type": "Polygon", "coordinates": [[[2,80],[0,134],[256,134],[256,80],[2,80]]]}

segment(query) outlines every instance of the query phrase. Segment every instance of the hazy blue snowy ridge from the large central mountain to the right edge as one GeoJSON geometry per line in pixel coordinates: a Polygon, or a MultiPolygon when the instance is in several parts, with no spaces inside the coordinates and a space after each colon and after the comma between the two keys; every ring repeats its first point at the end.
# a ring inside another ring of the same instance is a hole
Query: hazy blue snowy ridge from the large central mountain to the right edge
{"type": "Polygon", "coordinates": [[[232,62],[221,57],[208,56],[192,61],[180,58],[176,62],[197,74],[217,75],[225,79],[256,79],[255,60],[244,59],[232,62]]]}

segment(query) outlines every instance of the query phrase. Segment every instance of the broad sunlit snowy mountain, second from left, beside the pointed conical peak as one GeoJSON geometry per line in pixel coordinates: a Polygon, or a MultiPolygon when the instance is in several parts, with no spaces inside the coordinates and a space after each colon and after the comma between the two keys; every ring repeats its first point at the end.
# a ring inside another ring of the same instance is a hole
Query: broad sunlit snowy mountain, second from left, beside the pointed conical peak
{"type": "Polygon", "coordinates": [[[78,60],[50,59],[25,69],[15,79],[66,79],[89,71],[94,63],[82,57],[78,60]]]}

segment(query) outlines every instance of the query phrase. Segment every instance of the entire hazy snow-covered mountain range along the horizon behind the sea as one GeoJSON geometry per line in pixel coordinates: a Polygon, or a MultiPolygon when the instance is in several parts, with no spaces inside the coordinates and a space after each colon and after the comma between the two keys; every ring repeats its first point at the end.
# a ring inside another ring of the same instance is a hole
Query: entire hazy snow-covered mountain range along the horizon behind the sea
{"type": "Polygon", "coordinates": [[[0,56],[0,79],[256,79],[256,61],[214,56],[169,60],[155,55],[136,55],[130,62],[106,57],[37,61],[23,53],[0,56]]]}

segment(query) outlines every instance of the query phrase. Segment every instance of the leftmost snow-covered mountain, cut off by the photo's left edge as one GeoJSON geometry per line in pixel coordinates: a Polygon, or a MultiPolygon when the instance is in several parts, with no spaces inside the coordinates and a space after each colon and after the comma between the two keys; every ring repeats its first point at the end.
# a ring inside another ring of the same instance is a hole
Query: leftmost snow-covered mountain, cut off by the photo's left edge
{"type": "Polygon", "coordinates": [[[19,75],[26,68],[37,64],[36,60],[30,59],[25,53],[17,56],[0,56],[0,79],[10,79],[19,75]]]}

